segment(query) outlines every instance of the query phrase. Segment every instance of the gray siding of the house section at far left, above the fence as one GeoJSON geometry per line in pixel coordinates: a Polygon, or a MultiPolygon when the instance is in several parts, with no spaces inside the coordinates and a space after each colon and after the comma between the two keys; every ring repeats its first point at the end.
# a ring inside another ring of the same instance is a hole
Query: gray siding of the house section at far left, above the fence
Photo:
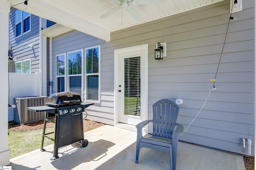
{"type": "MultiPolygon", "coordinates": [[[[15,11],[11,9],[10,13],[10,44],[12,45],[12,57],[17,61],[31,58],[31,73],[39,72],[39,17],[31,14],[31,31],[15,38],[15,11]],[[33,43],[33,47],[29,47],[33,43]]],[[[9,72],[15,72],[15,62],[9,62],[9,72]]]]}

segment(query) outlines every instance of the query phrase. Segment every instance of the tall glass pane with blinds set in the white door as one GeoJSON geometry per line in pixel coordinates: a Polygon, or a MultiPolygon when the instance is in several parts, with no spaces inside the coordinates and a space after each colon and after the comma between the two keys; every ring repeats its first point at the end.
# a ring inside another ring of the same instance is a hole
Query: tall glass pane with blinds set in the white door
{"type": "Polygon", "coordinates": [[[140,56],[124,59],[124,114],[140,116],[140,56]]]}

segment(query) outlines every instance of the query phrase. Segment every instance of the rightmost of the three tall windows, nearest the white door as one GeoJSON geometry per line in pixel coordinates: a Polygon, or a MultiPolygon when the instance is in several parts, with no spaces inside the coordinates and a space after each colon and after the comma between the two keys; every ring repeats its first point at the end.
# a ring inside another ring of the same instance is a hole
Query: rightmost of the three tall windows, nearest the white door
{"type": "Polygon", "coordinates": [[[86,52],[86,101],[99,102],[100,96],[100,45],[90,47],[86,52]]]}

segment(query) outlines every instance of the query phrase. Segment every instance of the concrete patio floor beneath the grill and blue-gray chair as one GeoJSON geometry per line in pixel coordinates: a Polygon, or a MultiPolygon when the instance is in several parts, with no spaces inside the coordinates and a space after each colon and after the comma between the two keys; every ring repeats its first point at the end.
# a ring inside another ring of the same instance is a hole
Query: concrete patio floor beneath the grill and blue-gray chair
{"type": "MultiPolygon", "coordinates": [[[[140,151],[135,164],[136,132],[104,125],[86,132],[86,148],[80,143],[59,149],[56,160],[50,160],[53,145],[45,152],[35,150],[12,158],[12,170],[167,170],[168,154],[148,148],[140,151]]],[[[48,139],[46,139],[48,140],[48,139]]],[[[242,156],[179,142],[177,170],[245,170],[242,156]]]]}

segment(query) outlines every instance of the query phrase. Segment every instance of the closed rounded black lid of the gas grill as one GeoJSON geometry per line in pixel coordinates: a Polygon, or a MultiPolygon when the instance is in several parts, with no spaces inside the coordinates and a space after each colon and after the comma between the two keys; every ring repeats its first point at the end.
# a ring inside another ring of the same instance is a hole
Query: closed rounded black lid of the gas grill
{"type": "Polygon", "coordinates": [[[82,103],[79,93],[64,91],[54,93],[47,98],[46,105],[52,107],[63,107],[66,105],[80,105],[82,103]]]}

